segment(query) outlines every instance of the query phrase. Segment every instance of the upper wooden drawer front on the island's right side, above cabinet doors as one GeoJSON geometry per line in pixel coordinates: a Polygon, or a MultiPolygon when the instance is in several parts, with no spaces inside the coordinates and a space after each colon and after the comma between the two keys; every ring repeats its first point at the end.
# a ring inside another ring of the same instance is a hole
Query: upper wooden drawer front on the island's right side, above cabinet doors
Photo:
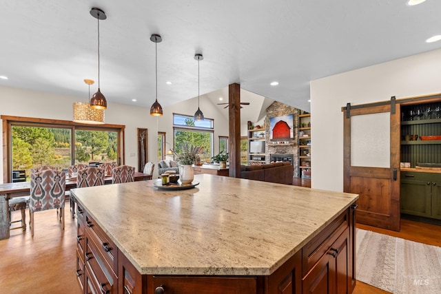
{"type": "Polygon", "coordinates": [[[302,249],[302,275],[305,276],[327,253],[331,245],[337,240],[345,229],[349,227],[349,210],[340,214],[321,233],[316,235],[302,249]]]}

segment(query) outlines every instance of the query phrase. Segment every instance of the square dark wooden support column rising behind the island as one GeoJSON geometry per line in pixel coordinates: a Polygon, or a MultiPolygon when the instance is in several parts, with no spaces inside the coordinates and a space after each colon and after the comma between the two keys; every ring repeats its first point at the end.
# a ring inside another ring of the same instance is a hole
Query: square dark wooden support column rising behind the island
{"type": "Polygon", "coordinates": [[[229,176],[240,178],[240,85],[228,86],[229,176]]]}

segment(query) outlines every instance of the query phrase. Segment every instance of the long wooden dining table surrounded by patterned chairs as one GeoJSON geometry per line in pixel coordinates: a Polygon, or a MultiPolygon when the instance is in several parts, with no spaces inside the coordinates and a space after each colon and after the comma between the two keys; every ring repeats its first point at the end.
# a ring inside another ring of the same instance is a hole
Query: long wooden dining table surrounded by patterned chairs
{"type": "MultiPolygon", "coordinates": [[[[151,180],[152,175],[136,171],[134,180],[151,180]]],[[[104,185],[112,184],[112,176],[105,176],[104,185]]],[[[76,178],[66,178],[65,189],[76,188],[76,178]]],[[[9,238],[9,200],[10,198],[29,196],[30,182],[6,182],[0,184],[0,240],[9,238]]]]}

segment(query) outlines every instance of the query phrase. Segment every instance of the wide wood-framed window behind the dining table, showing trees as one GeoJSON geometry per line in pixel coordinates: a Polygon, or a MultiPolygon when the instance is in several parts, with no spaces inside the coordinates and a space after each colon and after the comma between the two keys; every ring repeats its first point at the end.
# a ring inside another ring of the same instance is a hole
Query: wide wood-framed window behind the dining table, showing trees
{"type": "Polygon", "coordinates": [[[81,125],[65,120],[1,116],[3,134],[3,182],[12,171],[35,165],[65,168],[74,163],[121,162],[123,125],[81,125]],[[5,129],[5,128],[3,128],[5,129]],[[73,144],[72,144],[73,143],[73,144]]]}

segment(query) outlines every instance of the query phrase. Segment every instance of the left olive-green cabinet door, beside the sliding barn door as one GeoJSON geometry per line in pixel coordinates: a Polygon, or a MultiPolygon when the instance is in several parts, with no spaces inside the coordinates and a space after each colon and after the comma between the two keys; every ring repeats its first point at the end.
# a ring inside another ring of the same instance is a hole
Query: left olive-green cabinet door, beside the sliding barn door
{"type": "Polygon", "coordinates": [[[430,218],[431,182],[425,180],[401,180],[400,210],[401,213],[430,218]]]}

